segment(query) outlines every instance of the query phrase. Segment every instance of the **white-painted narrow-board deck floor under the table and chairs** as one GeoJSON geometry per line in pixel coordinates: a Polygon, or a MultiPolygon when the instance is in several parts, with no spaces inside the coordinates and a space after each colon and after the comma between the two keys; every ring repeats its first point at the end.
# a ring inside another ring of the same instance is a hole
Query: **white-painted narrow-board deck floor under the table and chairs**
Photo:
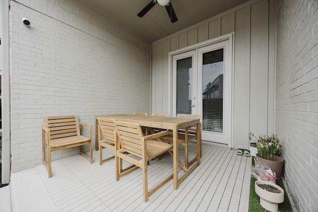
{"type": "MultiPolygon", "coordinates": [[[[195,143],[190,143],[195,152],[195,143]]],[[[251,157],[236,150],[203,144],[201,165],[173,189],[173,180],[143,202],[142,171],[136,170],[115,181],[114,159],[99,165],[80,155],[52,162],[52,177],[43,165],[36,167],[56,209],[60,212],[247,212],[251,157]]],[[[111,154],[103,149],[104,154],[111,154]]],[[[183,146],[179,158],[184,157],[183,146]]],[[[194,154],[190,156],[194,157],[194,154]]],[[[180,167],[180,166],[179,166],[180,167]]],[[[148,166],[149,188],[152,182],[172,171],[172,156],[155,158],[148,166]]],[[[179,174],[182,174],[181,168],[179,174]]]]}

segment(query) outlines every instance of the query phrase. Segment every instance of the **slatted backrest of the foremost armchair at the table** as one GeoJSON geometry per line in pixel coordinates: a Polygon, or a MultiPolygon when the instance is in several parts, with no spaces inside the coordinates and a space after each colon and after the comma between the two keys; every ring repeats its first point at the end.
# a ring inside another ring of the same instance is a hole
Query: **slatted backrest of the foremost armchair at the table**
{"type": "Polygon", "coordinates": [[[142,129],[139,124],[114,121],[120,148],[138,157],[143,157],[142,129]]]}

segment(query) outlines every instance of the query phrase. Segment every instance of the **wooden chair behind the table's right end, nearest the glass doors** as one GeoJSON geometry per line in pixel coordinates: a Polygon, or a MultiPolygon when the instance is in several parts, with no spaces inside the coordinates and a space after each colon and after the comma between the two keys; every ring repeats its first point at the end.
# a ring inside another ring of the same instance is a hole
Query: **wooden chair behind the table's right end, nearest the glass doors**
{"type": "MultiPolygon", "coordinates": [[[[180,118],[193,118],[193,119],[200,119],[200,115],[194,115],[194,114],[177,114],[177,117],[180,118]]],[[[201,125],[200,125],[201,129],[201,125]]],[[[178,144],[183,145],[185,148],[185,167],[188,168],[195,160],[196,158],[193,158],[191,161],[189,161],[188,157],[188,142],[196,139],[200,139],[201,132],[197,132],[196,127],[186,128],[186,129],[179,129],[178,130],[178,144]]],[[[162,141],[165,142],[172,142],[173,137],[172,135],[167,135],[161,138],[162,141]]],[[[200,149],[200,156],[201,156],[201,149],[200,149]]]]}

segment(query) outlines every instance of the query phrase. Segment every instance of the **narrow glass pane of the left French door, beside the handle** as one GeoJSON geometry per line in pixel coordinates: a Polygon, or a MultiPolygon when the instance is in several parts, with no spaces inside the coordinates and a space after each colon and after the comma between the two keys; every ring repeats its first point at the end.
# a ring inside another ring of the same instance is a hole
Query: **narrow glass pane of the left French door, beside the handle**
{"type": "Polygon", "coordinates": [[[192,57],[177,61],[177,114],[191,114],[192,57]]]}

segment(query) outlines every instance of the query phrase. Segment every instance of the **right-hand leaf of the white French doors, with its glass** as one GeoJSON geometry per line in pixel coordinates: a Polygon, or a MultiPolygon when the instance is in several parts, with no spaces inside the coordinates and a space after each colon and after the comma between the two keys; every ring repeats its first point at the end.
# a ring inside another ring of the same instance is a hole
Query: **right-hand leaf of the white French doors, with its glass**
{"type": "Polygon", "coordinates": [[[229,40],[198,49],[202,140],[231,144],[232,61],[229,40]]]}

